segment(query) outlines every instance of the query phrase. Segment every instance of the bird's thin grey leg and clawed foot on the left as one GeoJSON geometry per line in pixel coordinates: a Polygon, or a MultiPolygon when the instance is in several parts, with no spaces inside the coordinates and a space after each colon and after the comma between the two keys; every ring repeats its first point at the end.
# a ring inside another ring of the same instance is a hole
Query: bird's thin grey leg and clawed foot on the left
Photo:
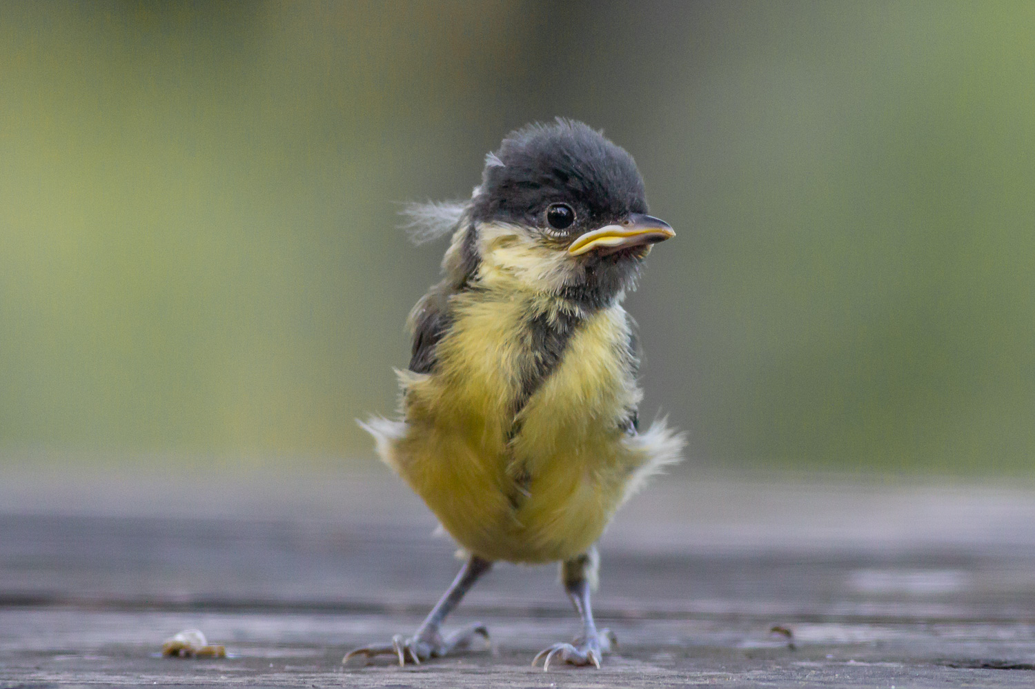
{"type": "Polygon", "coordinates": [[[405,638],[402,634],[395,634],[389,643],[373,643],[353,649],[345,654],[342,662],[347,663],[350,658],[358,655],[371,658],[382,654],[392,654],[398,658],[400,665],[405,665],[408,662],[420,663],[428,658],[441,658],[453,649],[466,648],[476,635],[487,640],[489,630],[480,622],[454,631],[448,636],[442,635],[440,627],[446,616],[464,598],[468,589],[492,567],[491,561],[483,560],[478,556],[471,556],[413,636],[405,638]]]}

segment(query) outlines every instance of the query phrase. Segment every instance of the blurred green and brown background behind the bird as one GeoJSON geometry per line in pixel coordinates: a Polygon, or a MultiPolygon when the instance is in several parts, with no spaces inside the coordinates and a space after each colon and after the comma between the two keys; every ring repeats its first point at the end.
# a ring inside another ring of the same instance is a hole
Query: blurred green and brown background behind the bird
{"type": "Polygon", "coordinates": [[[556,115],[679,232],[628,306],[691,461],[1035,469],[1030,2],[4,2],[0,456],[373,461],[398,202],[556,115]]]}

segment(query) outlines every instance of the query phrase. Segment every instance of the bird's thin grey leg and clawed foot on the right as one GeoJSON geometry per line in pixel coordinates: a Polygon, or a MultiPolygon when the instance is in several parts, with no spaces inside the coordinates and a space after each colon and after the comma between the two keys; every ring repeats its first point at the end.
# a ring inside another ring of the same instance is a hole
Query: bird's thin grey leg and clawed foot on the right
{"type": "Polygon", "coordinates": [[[540,651],[532,659],[532,665],[543,658],[542,669],[549,670],[550,661],[556,655],[572,665],[594,665],[599,668],[603,654],[611,651],[613,645],[618,645],[618,639],[610,629],[597,631],[596,623],[593,622],[593,610],[589,604],[589,592],[596,582],[599,562],[596,546],[592,546],[578,558],[561,563],[564,591],[568,594],[579,617],[582,618],[583,630],[571,643],[554,643],[540,651]]]}

